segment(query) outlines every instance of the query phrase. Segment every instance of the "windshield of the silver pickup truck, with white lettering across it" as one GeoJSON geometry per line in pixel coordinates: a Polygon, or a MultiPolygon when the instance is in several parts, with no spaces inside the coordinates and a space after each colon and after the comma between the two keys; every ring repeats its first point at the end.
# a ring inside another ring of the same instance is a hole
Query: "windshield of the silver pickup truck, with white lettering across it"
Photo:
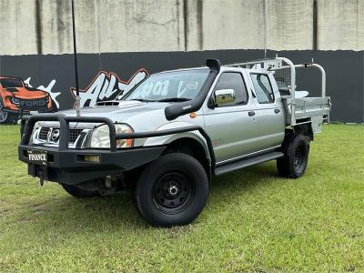
{"type": "Polygon", "coordinates": [[[194,99],[208,73],[208,69],[195,69],[151,75],[122,99],[166,102],[194,99]]]}

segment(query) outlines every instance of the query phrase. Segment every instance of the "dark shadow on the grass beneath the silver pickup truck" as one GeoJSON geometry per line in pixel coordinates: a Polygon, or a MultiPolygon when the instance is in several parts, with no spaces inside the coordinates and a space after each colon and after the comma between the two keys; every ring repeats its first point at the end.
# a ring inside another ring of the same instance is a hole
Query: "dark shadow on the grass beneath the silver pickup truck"
{"type": "MultiPolygon", "coordinates": [[[[276,177],[277,171],[272,164],[249,167],[214,177],[207,201],[207,213],[213,214],[217,207],[221,209],[231,206],[228,200],[234,203],[235,197],[254,191],[256,187],[269,187],[269,183],[276,177]]],[[[29,224],[43,223],[44,226],[52,228],[53,232],[69,235],[85,229],[92,233],[100,233],[117,229],[127,232],[127,230],[152,228],[137,213],[129,191],[109,197],[77,199],[68,196],[62,187],[59,187],[56,195],[45,198],[41,204],[31,205],[31,211],[33,216],[27,221],[29,224]]]]}

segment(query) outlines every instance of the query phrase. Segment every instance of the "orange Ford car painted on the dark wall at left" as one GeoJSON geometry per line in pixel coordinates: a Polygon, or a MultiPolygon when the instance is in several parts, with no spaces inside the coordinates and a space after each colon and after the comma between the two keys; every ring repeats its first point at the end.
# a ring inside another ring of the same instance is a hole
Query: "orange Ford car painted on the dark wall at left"
{"type": "Polygon", "coordinates": [[[25,114],[56,110],[47,92],[27,86],[21,78],[0,76],[0,123],[12,124],[25,114]]]}

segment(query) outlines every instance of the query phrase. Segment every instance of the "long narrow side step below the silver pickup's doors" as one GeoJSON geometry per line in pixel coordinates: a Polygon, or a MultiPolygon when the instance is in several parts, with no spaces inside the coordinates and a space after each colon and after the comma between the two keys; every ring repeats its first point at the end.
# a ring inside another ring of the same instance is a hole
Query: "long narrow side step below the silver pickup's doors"
{"type": "Polygon", "coordinates": [[[223,175],[226,174],[228,172],[243,168],[243,167],[250,167],[253,165],[257,165],[269,160],[273,160],[273,159],[277,159],[279,157],[283,157],[283,153],[281,152],[269,152],[266,154],[262,154],[262,155],[258,155],[255,157],[248,157],[248,158],[243,158],[243,159],[239,159],[237,161],[233,161],[221,166],[217,166],[215,169],[215,175],[219,176],[219,175],[223,175]]]}

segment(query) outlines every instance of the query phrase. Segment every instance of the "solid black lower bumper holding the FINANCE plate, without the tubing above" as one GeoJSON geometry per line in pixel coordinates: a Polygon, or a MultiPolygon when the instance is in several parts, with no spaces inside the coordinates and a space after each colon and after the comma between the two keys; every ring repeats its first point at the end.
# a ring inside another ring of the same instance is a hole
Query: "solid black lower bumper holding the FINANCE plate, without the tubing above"
{"type": "Polygon", "coordinates": [[[160,157],[165,149],[164,146],[136,147],[111,152],[101,149],[58,150],[57,147],[20,145],[18,157],[28,165],[28,174],[33,177],[76,185],[146,165],[160,157]],[[30,149],[46,151],[47,165],[36,165],[29,161],[27,153],[30,149]],[[99,162],[84,160],[86,155],[98,156],[99,162]]]}

